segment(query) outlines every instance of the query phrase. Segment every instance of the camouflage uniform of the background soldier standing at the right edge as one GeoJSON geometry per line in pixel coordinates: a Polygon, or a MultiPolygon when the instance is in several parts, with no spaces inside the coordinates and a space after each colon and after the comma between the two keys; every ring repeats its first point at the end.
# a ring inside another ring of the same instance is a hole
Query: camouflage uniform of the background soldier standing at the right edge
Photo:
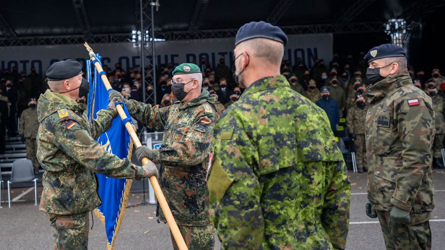
{"type": "Polygon", "coordinates": [[[443,138],[445,137],[445,119],[443,117],[443,97],[440,95],[434,95],[432,98],[432,104],[434,106],[435,116],[435,134],[433,142],[433,156],[434,158],[442,158],[443,138]]]}

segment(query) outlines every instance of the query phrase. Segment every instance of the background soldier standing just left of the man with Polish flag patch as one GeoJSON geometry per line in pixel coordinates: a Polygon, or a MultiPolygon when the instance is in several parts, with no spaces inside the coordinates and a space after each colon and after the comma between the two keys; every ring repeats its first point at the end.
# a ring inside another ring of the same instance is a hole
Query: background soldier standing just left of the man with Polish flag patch
{"type": "Polygon", "coordinates": [[[349,134],[354,139],[355,152],[357,153],[357,170],[363,172],[367,169],[366,164],[366,141],[364,139],[364,118],[367,112],[367,103],[363,95],[357,94],[355,96],[354,105],[349,107],[346,115],[346,125],[349,129],[349,134]]]}

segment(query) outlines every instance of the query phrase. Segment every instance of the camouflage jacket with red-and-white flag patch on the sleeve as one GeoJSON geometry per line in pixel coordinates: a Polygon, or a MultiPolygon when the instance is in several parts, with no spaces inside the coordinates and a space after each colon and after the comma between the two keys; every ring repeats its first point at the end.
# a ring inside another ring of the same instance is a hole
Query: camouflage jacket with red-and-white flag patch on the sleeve
{"type": "Polygon", "coordinates": [[[408,72],[366,88],[365,121],[368,198],[378,210],[411,211],[411,223],[429,219],[434,207],[431,146],[432,101],[408,72]]]}

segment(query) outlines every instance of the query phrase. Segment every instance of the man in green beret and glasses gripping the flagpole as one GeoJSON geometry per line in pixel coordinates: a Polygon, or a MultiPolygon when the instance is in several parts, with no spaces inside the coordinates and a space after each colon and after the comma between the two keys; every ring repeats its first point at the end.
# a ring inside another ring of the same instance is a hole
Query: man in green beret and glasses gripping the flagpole
{"type": "MultiPolygon", "coordinates": [[[[133,118],[164,131],[159,149],[143,146],[135,154],[139,160],[146,156],[160,163],[159,184],[188,249],[213,249],[214,230],[208,216],[205,174],[217,119],[214,107],[217,97],[201,87],[202,74],[196,64],[182,63],[172,74],[171,90],[178,101],[171,106],[126,100],[133,118]]],[[[159,206],[157,214],[165,222],[159,206]]],[[[172,235],[171,241],[176,249],[172,235]]]]}

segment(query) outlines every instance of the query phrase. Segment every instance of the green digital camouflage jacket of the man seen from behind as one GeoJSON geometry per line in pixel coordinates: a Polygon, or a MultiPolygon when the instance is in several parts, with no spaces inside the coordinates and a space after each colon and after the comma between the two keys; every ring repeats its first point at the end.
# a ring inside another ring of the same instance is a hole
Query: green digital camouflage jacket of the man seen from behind
{"type": "Polygon", "coordinates": [[[214,131],[210,219],[221,248],[344,248],[350,183],[325,112],[282,75],[253,82],[214,131]],[[310,240],[309,240],[310,239],[310,240]]]}

